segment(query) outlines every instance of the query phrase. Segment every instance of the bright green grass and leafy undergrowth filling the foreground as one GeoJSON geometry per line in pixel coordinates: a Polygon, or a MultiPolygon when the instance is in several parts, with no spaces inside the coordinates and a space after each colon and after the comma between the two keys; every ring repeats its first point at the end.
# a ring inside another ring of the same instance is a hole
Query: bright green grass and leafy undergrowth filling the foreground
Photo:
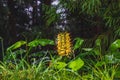
{"type": "MultiPolygon", "coordinates": [[[[77,38],[78,39],[78,38],[77,38]]],[[[81,45],[83,41],[78,39],[81,45]]],[[[42,39],[40,45],[53,45],[52,40],[42,39]],[[49,42],[49,43],[48,43],[49,42]],[[52,44],[51,44],[52,43],[52,44]]],[[[78,43],[78,41],[76,41],[78,43]]],[[[23,56],[22,54],[30,53],[33,47],[37,47],[36,40],[29,42],[26,46],[31,44],[30,49],[22,49],[25,45],[24,41],[19,41],[7,49],[4,61],[0,64],[1,79],[2,80],[84,80],[84,79],[101,79],[101,80],[114,80],[120,78],[120,55],[119,45],[120,40],[113,42],[109,50],[105,51],[103,55],[100,40],[96,40],[94,48],[81,48],[84,52],[73,59],[70,57],[62,57],[55,55],[51,51],[36,52],[33,58],[31,56],[23,56]],[[19,44],[18,44],[19,43],[19,44]],[[31,48],[32,47],[32,48],[31,48]],[[15,49],[15,51],[13,51],[15,49]],[[28,51],[29,50],[29,51],[28,51]],[[47,56],[50,54],[50,56],[47,56]],[[17,56],[21,56],[18,58],[17,56]],[[42,57],[41,57],[42,56],[42,57]],[[31,59],[30,63],[26,58],[31,59]],[[39,57],[38,59],[36,57],[39,57]]],[[[76,46],[81,46],[75,44],[76,46]]],[[[74,48],[75,49],[75,48],[74,48]]],[[[75,49],[77,50],[77,49],[75,49]]]]}

